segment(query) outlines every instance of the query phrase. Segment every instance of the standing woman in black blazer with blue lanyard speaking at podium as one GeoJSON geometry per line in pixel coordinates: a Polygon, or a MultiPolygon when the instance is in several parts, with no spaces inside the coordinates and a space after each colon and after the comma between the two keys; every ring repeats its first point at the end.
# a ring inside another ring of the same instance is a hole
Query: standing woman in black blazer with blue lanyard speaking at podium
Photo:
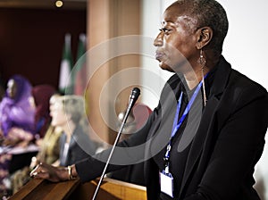
{"type": "MultiPolygon", "coordinates": [[[[118,145],[107,170],[145,162],[147,199],[260,199],[253,173],[264,148],[268,96],[223,58],[227,30],[226,12],[214,0],[178,0],[163,14],[155,57],[174,75],[147,124],[118,145]]],[[[70,171],[40,165],[31,174],[88,181],[101,175],[108,153],[70,171]]]]}

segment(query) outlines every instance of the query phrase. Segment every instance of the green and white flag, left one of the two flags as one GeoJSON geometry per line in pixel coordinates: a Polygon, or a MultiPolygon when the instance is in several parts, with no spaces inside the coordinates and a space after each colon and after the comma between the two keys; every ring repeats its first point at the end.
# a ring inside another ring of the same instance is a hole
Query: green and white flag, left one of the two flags
{"type": "Polygon", "coordinates": [[[60,66],[60,78],[59,78],[59,91],[63,95],[72,94],[71,67],[72,67],[71,34],[67,33],[65,34],[64,38],[63,58],[60,66]]]}

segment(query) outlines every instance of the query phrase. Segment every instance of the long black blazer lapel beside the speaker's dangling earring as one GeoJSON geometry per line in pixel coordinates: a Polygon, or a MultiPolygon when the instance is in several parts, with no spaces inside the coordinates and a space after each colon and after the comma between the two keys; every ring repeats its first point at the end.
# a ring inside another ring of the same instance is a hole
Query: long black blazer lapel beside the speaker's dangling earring
{"type": "Polygon", "coordinates": [[[220,97],[224,88],[227,85],[229,76],[230,76],[230,64],[225,61],[222,57],[218,69],[214,74],[213,86],[210,90],[210,96],[208,97],[207,104],[205,106],[202,118],[197,129],[197,134],[192,142],[189,154],[188,161],[186,163],[186,168],[184,171],[184,176],[182,178],[180,194],[182,193],[186,182],[188,181],[189,175],[194,172],[195,165],[200,157],[202,149],[206,143],[206,139],[209,135],[210,130],[212,129],[214,114],[217,110],[217,106],[220,103],[220,97]]]}

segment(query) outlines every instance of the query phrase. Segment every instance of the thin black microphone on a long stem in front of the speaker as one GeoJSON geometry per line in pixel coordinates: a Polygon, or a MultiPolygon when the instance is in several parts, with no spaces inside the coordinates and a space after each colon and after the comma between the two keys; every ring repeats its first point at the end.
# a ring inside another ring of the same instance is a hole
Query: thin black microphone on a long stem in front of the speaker
{"type": "Polygon", "coordinates": [[[107,162],[105,163],[104,171],[103,171],[103,173],[102,173],[102,175],[101,175],[101,177],[100,177],[100,179],[98,181],[98,184],[96,186],[96,190],[95,190],[94,196],[92,197],[92,200],[95,200],[95,198],[96,198],[96,195],[97,195],[97,192],[99,190],[99,187],[100,187],[100,185],[101,185],[101,183],[102,183],[102,181],[103,181],[103,179],[105,177],[105,171],[106,171],[106,169],[108,167],[108,164],[109,164],[109,162],[110,162],[110,160],[112,158],[114,148],[115,148],[115,146],[117,145],[117,143],[119,141],[119,138],[121,136],[122,129],[124,128],[124,125],[125,125],[128,117],[129,117],[129,115],[130,115],[131,108],[136,103],[139,94],[140,94],[139,88],[138,87],[134,87],[132,89],[132,91],[131,91],[131,94],[130,94],[130,100],[129,100],[129,105],[128,105],[127,111],[125,113],[125,116],[123,118],[123,121],[121,122],[121,127],[120,127],[120,129],[119,129],[119,131],[117,133],[117,136],[116,136],[115,140],[114,140],[113,147],[112,147],[111,152],[110,152],[110,154],[108,156],[107,162]]]}

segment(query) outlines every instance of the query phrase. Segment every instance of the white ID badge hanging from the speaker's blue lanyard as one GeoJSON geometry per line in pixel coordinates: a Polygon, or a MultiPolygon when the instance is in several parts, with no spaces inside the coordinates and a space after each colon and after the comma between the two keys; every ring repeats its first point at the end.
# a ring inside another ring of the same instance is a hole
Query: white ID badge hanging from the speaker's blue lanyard
{"type": "Polygon", "coordinates": [[[161,192],[173,197],[173,177],[171,173],[166,173],[165,171],[160,173],[160,187],[161,192]]]}

